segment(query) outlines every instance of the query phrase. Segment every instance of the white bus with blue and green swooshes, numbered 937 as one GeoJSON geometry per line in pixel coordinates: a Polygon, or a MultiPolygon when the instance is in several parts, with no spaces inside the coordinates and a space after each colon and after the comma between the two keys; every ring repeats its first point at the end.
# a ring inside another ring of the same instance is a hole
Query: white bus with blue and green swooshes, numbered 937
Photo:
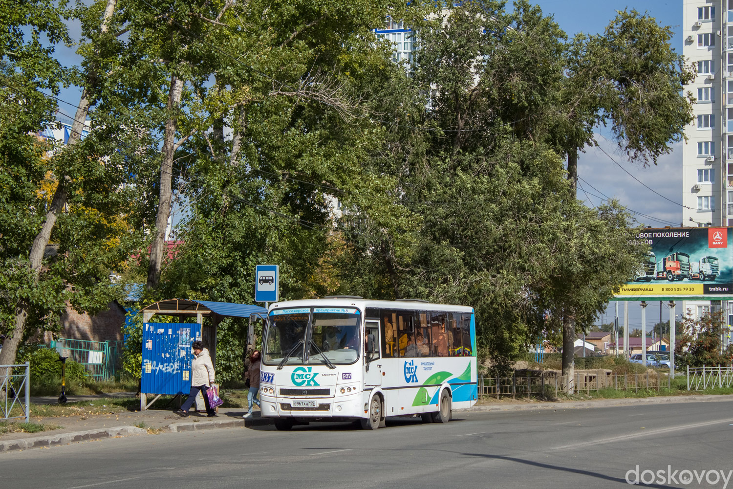
{"type": "Polygon", "coordinates": [[[262,416],[278,430],[387,416],[446,423],[476,403],[474,309],[360,297],[278,302],[262,340],[262,416]]]}

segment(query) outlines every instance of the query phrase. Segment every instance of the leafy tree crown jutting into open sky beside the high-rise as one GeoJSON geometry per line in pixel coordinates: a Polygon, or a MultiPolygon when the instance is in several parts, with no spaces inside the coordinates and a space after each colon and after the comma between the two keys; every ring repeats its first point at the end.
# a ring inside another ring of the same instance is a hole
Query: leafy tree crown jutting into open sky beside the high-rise
{"type": "Polygon", "coordinates": [[[672,36],[655,18],[622,10],[603,34],[570,40],[551,138],[567,154],[573,189],[578,150],[597,144],[598,125],[611,125],[619,150],[644,165],[656,164],[671,142],[685,138],[694,100],[685,85],[696,72],[671,47],[672,36]]]}

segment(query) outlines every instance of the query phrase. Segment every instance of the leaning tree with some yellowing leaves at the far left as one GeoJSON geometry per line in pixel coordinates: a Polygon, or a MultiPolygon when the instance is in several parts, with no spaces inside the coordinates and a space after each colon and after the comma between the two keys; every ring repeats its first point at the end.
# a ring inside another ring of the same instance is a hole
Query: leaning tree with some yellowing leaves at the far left
{"type": "Polygon", "coordinates": [[[12,249],[3,250],[4,264],[12,273],[1,282],[4,329],[10,330],[1,364],[15,361],[18,345],[34,330],[29,326],[53,327],[67,305],[94,313],[120,293],[119,287],[111,286],[109,274],[122,265],[133,239],[127,224],[129,189],[122,184],[136,167],[136,158],[134,152],[120,150],[135,137],[127,134],[119,106],[100,97],[101,73],[114,69],[110,63],[116,59],[110,56],[117,38],[110,29],[115,4],[107,0],[75,11],[89,40],[81,47],[86,58],[83,71],[62,69],[52,56],[55,43],[69,41],[62,19],[72,12],[64,3],[24,2],[19,10],[9,9],[20,15],[10,19],[12,28],[25,23],[32,34],[28,43],[23,43],[21,32],[15,40],[6,37],[2,46],[10,63],[7,73],[15,78],[7,85],[12,97],[4,99],[3,111],[17,110],[21,115],[17,120],[23,121],[4,125],[10,130],[10,137],[4,138],[10,151],[4,152],[3,177],[28,178],[5,201],[3,217],[14,215],[12,225],[18,232],[10,236],[12,249]],[[41,48],[42,33],[51,47],[41,48]],[[83,90],[69,139],[58,146],[34,135],[54,123],[53,94],[68,79],[83,90]],[[7,109],[18,100],[27,103],[7,109]],[[100,110],[90,111],[99,100],[104,100],[97,106],[100,110]],[[83,138],[87,125],[93,129],[83,138]],[[11,308],[12,326],[7,314],[11,308]]]}

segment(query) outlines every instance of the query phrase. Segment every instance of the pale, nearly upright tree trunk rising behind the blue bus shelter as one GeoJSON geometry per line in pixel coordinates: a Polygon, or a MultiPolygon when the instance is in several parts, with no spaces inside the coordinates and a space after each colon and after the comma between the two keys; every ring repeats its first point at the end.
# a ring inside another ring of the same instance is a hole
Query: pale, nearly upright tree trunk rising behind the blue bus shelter
{"type": "Polygon", "coordinates": [[[147,268],[147,290],[158,287],[163,267],[163,251],[166,243],[166,228],[171,216],[171,182],[173,177],[173,157],[175,154],[175,137],[178,129],[177,111],[183,93],[183,80],[177,75],[171,76],[171,87],[168,92],[169,119],[163,140],[163,161],[161,163],[161,192],[158,198],[158,216],[155,218],[155,236],[150,246],[150,262],[147,268]]]}

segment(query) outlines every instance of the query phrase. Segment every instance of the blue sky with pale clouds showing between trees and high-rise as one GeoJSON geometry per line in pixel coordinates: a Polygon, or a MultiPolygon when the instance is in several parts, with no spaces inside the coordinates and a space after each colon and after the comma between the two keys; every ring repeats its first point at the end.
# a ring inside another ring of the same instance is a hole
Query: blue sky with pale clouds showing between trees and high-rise
{"type": "MultiPolygon", "coordinates": [[[[584,32],[597,34],[603,32],[605,26],[616,15],[617,10],[625,8],[647,12],[663,25],[671,26],[674,31],[672,46],[682,51],[682,2],[679,0],[538,0],[532,3],[539,4],[546,15],[553,15],[568,36],[584,32]]],[[[72,35],[78,34],[78,24],[71,24],[72,35]]],[[[81,58],[75,54],[75,48],[59,46],[56,54],[65,65],[78,65],[81,58]]],[[[70,103],[78,103],[79,91],[75,87],[63,89],[59,98],[70,103]]],[[[75,108],[65,103],[59,103],[59,109],[65,114],[73,116],[75,108]]],[[[642,167],[630,163],[622,152],[619,152],[614,141],[609,141],[600,131],[597,141],[598,147],[586,147],[585,152],[578,158],[578,198],[588,205],[598,205],[601,199],[615,197],[619,203],[628,207],[636,216],[639,223],[652,227],[679,226],[682,221],[682,144],[673,146],[673,151],[658,160],[656,166],[642,167]],[[605,152],[604,152],[605,151],[605,152]],[[608,153],[608,154],[606,154],[608,153]],[[614,160],[616,163],[614,163],[614,160]],[[627,172],[624,172],[624,169],[627,172]],[[632,176],[633,175],[633,176],[632,176]],[[636,179],[634,178],[636,177],[636,179]],[[641,183],[639,182],[641,181],[641,183]],[[658,194],[654,194],[646,184],[658,194]],[[666,198],[665,198],[666,197],[666,198]],[[642,216],[644,214],[644,216],[642,216]]],[[[647,309],[647,316],[651,325],[659,317],[658,302],[647,309]],[[656,311],[656,312],[655,312],[656,311]]],[[[619,306],[623,310],[623,306],[619,306]]],[[[681,313],[677,306],[677,313],[681,313]]],[[[641,307],[639,303],[629,304],[630,325],[632,328],[641,325],[641,307]]],[[[614,317],[614,304],[608,312],[600,318],[598,323],[608,323],[614,317]]],[[[663,312],[663,320],[668,320],[668,309],[663,312]]],[[[649,326],[651,328],[651,326],[649,326]]]]}

